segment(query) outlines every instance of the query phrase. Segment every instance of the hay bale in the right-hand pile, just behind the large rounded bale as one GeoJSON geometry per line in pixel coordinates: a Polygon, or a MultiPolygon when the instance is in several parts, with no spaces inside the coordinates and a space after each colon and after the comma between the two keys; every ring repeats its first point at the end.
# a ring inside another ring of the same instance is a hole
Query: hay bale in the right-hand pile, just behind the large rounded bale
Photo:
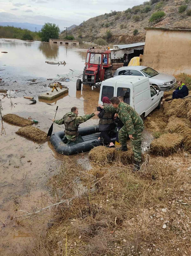
{"type": "Polygon", "coordinates": [[[165,131],[168,131],[169,133],[181,133],[181,131],[186,127],[187,125],[185,119],[177,118],[175,115],[173,115],[169,118],[165,131]]]}

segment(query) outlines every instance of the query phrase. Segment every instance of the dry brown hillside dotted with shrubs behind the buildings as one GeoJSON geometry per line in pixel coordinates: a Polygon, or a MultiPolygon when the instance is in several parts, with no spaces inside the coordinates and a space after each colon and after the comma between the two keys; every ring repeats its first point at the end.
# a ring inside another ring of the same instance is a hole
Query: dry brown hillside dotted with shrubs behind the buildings
{"type": "Polygon", "coordinates": [[[93,42],[98,38],[103,38],[108,43],[137,43],[145,40],[144,27],[148,27],[153,13],[163,11],[165,17],[161,22],[153,23],[152,26],[191,27],[190,9],[190,0],[146,1],[142,5],[134,6],[123,12],[113,11],[88,19],[72,29],[71,33],[75,38],[79,37],[84,41],[93,42]],[[179,13],[181,5],[186,6],[186,10],[179,13]],[[133,35],[135,29],[138,30],[137,35],[133,35]]]}

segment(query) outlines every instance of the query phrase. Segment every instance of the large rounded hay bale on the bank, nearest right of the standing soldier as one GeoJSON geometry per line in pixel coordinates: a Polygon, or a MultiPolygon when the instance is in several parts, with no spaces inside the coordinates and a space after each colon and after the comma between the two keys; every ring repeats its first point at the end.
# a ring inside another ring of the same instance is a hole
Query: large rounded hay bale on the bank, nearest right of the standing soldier
{"type": "Polygon", "coordinates": [[[160,156],[168,156],[179,149],[183,136],[177,133],[166,133],[150,144],[150,153],[160,156]]]}

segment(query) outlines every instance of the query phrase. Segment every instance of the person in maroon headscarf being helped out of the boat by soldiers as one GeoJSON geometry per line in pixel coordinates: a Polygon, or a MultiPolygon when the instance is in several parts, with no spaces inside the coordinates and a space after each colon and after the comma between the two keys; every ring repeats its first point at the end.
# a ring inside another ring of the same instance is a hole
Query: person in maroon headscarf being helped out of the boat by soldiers
{"type": "MultiPolygon", "coordinates": [[[[103,97],[102,102],[103,102],[103,106],[111,106],[111,102],[108,97],[103,97]]],[[[104,109],[101,109],[100,107],[98,108],[100,111],[100,114],[98,115],[98,117],[100,118],[99,130],[101,132],[101,139],[104,145],[109,145],[110,148],[114,148],[115,145],[111,141],[110,131],[115,128],[115,123],[114,123],[115,112],[106,113],[104,109]]]]}

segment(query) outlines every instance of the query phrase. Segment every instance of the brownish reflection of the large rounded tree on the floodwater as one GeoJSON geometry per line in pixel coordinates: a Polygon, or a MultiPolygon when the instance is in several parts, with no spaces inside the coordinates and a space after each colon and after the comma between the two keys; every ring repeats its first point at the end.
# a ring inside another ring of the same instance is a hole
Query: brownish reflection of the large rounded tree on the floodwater
{"type": "Polygon", "coordinates": [[[38,46],[40,52],[42,52],[43,56],[45,56],[48,60],[56,60],[58,58],[58,45],[41,42],[38,46]]]}

